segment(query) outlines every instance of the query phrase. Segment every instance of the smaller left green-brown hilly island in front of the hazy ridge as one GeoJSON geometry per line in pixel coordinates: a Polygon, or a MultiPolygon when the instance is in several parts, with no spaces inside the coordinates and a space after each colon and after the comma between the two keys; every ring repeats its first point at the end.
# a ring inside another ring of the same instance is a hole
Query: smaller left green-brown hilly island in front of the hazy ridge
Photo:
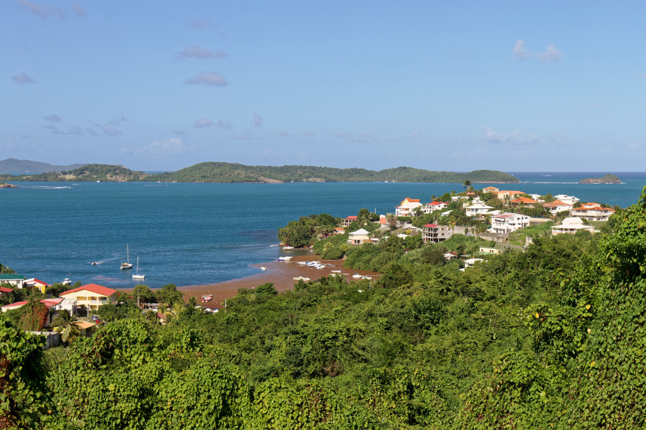
{"type": "Polygon", "coordinates": [[[147,176],[144,172],[135,172],[127,167],[108,164],[89,164],[74,170],[62,170],[59,172],[48,172],[41,174],[23,174],[12,176],[9,174],[0,175],[5,181],[74,181],[74,182],[127,182],[140,181],[147,176]]]}

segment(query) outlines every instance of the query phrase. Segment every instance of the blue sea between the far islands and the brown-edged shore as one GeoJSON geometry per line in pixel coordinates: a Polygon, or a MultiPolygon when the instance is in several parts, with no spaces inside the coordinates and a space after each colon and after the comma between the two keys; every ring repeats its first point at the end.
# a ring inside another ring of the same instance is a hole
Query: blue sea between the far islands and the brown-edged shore
{"type": "MultiPolygon", "coordinates": [[[[617,172],[624,183],[610,185],[576,183],[599,172],[512,174],[523,183],[495,186],[621,207],[636,203],[646,185],[643,172],[617,172]]],[[[119,269],[127,244],[130,262],[139,256],[151,287],[222,282],[255,274],[250,264],[282,255],[269,245],[289,220],[321,212],[345,217],[362,207],[383,214],[405,197],[430,201],[463,189],[457,183],[14,184],[20,188],[0,189],[0,263],[48,283],[70,278],[116,288],[139,283],[119,269]]]]}

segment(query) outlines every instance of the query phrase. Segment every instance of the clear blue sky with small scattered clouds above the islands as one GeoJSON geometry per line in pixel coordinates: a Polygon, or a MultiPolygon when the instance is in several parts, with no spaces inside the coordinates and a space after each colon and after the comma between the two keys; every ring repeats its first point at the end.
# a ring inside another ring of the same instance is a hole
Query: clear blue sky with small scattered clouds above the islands
{"type": "Polygon", "coordinates": [[[0,159],[644,170],[646,3],[0,1],[0,159]]]}

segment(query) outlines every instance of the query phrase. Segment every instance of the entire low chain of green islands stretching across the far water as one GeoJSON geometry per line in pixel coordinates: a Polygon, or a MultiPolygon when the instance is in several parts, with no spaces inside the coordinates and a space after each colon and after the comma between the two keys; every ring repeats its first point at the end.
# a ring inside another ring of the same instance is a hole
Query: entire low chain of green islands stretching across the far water
{"type": "Polygon", "coordinates": [[[148,181],[208,183],[280,183],[302,181],[395,181],[463,183],[518,183],[519,179],[498,170],[468,173],[434,172],[397,167],[385,170],[335,169],[313,166],[246,166],[236,163],[206,162],[160,174],[136,172],[115,165],[90,164],[74,170],[42,174],[0,175],[5,181],[148,181]]]}

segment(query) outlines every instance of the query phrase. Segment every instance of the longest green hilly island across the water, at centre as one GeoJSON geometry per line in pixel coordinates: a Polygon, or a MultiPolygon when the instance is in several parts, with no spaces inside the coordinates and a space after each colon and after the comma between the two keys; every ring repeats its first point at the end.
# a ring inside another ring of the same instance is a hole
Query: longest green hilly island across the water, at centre
{"type": "Polygon", "coordinates": [[[177,172],[150,176],[145,181],[176,182],[300,182],[300,181],[395,181],[517,183],[519,180],[497,170],[474,170],[468,173],[434,172],[397,167],[386,170],[335,169],[314,166],[245,166],[237,163],[199,163],[177,172]]]}

